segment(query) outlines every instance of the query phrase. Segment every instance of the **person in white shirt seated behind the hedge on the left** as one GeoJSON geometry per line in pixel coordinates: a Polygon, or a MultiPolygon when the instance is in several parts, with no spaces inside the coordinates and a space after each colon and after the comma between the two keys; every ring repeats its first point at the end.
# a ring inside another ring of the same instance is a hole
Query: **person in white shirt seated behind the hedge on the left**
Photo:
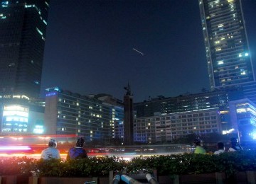
{"type": "Polygon", "coordinates": [[[57,147],[57,142],[55,139],[50,139],[48,148],[43,149],[41,153],[41,158],[43,160],[49,160],[49,159],[60,159],[60,151],[58,151],[57,147]]]}

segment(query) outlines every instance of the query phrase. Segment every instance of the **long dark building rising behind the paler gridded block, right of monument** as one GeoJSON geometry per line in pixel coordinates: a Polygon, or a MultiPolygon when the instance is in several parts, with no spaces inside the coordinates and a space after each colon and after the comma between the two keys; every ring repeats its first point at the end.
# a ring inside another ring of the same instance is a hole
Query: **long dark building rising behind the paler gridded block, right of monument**
{"type": "Polygon", "coordinates": [[[210,108],[227,109],[230,100],[244,98],[242,91],[210,91],[166,98],[159,96],[141,103],[134,103],[136,117],[150,117],[154,113],[180,113],[210,108]]]}

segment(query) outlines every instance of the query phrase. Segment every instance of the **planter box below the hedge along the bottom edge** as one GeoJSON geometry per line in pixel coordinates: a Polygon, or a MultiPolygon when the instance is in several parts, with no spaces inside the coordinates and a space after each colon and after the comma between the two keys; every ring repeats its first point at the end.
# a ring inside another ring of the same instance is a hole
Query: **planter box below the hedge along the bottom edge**
{"type": "MultiPolygon", "coordinates": [[[[134,179],[143,179],[144,174],[130,175],[134,179]]],[[[256,172],[243,171],[238,172],[229,178],[225,177],[225,173],[205,173],[196,175],[174,175],[174,176],[157,176],[159,184],[192,184],[192,183],[250,183],[255,184],[256,172]]],[[[111,183],[113,179],[112,173],[110,177],[100,178],[58,178],[58,177],[28,177],[27,175],[18,176],[0,176],[0,184],[84,184],[87,181],[96,181],[96,184],[111,183]]]]}

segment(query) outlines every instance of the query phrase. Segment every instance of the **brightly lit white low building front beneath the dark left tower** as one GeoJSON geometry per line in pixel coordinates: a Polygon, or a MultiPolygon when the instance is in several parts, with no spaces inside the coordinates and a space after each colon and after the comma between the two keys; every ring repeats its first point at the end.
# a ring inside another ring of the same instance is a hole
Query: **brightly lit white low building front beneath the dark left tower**
{"type": "Polygon", "coordinates": [[[43,100],[28,98],[0,99],[0,134],[44,134],[43,100]]]}

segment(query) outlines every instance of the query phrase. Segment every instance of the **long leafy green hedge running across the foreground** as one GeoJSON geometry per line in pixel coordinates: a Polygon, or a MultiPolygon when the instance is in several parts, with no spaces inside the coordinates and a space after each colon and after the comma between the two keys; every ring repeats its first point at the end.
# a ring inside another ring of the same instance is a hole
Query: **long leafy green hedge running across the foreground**
{"type": "Polygon", "coordinates": [[[136,157],[124,161],[119,157],[92,157],[74,161],[52,159],[29,159],[14,157],[0,159],[0,176],[4,175],[38,175],[57,177],[94,177],[108,176],[124,170],[137,173],[144,170],[152,173],[156,169],[159,175],[182,175],[198,173],[225,172],[228,176],[237,171],[256,171],[256,153],[239,151],[220,154],[172,154],[169,156],[136,157]]]}

